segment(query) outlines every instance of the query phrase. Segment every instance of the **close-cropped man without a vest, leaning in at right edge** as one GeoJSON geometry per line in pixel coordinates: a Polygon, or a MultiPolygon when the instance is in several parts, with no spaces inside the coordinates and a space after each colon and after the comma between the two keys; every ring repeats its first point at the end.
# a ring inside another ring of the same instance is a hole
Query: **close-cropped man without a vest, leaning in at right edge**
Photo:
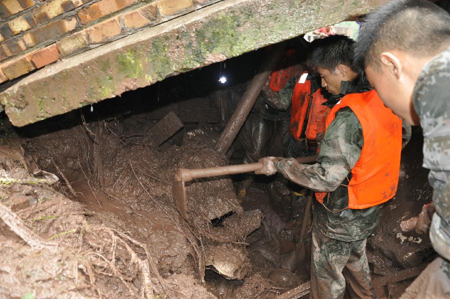
{"type": "Polygon", "coordinates": [[[436,210],[429,236],[440,257],[426,267],[402,298],[448,298],[450,15],[425,0],[384,4],[365,20],[355,61],[365,69],[385,105],[423,129],[423,166],[430,169],[436,210]]]}

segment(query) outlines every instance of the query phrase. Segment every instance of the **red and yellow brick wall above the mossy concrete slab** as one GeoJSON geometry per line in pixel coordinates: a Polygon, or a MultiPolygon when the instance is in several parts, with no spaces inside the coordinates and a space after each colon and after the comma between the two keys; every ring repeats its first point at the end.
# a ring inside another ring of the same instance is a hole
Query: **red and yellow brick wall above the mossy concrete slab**
{"type": "Polygon", "coordinates": [[[1,0],[0,83],[220,0],[1,0]]]}

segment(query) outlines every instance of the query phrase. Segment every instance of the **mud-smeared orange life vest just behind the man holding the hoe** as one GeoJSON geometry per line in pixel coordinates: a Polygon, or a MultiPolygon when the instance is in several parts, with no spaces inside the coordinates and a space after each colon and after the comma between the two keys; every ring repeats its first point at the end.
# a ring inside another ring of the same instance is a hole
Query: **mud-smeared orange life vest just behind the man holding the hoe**
{"type": "MultiPolygon", "coordinates": [[[[303,72],[303,74],[306,72],[303,72]]],[[[296,140],[300,140],[303,131],[304,119],[308,114],[305,137],[308,140],[315,140],[318,133],[325,130],[325,119],[329,108],[322,105],[326,99],[323,97],[320,88],[312,94],[311,81],[304,83],[297,81],[292,91],[292,106],[290,109],[290,133],[296,140]],[[309,109],[308,109],[309,106],[309,109]]]]}

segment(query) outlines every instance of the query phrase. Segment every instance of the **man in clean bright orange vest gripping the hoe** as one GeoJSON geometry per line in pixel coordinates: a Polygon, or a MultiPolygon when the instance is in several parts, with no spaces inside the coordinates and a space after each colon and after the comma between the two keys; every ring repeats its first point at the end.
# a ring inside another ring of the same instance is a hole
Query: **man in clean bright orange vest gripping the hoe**
{"type": "Polygon", "coordinates": [[[379,222],[382,203],[397,189],[401,120],[386,108],[352,68],[353,40],[333,35],[319,40],[310,57],[321,85],[332,96],[317,163],[264,157],[263,170],[315,190],[311,248],[311,298],[372,297],[366,238],[379,222]],[[346,267],[348,275],[342,275],[346,267]]]}

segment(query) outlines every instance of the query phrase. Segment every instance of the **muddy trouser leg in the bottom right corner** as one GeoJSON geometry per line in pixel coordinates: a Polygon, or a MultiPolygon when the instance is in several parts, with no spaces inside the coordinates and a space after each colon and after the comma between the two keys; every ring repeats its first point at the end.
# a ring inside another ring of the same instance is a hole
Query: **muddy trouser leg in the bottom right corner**
{"type": "Polygon", "coordinates": [[[450,298],[450,262],[442,257],[434,259],[400,297],[400,299],[432,298],[450,298]]]}

